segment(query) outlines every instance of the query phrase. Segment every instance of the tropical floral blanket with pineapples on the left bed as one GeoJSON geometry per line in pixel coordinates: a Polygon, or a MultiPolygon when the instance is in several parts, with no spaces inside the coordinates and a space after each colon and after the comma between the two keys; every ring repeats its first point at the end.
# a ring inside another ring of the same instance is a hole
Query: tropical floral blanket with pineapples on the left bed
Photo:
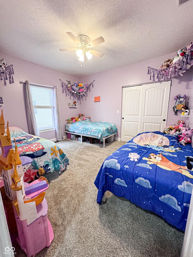
{"type": "Polygon", "coordinates": [[[33,136],[18,127],[9,127],[12,147],[14,139],[20,156],[33,159],[25,172],[24,181],[30,182],[45,173],[65,171],[69,162],[68,157],[54,142],[38,136],[33,136]]]}

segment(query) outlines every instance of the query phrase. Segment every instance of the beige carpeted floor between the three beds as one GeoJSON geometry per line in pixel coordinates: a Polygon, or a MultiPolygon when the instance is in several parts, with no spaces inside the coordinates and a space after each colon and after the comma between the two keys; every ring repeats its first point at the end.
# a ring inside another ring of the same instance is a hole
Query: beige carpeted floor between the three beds
{"type": "MultiPolygon", "coordinates": [[[[180,256],[184,233],[157,215],[126,199],[106,193],[106,203],[96,203],[96,175],[103,161],[125,142],[89,144],[65,139],[57,143],[70,165],[62,174],[46,174],[48,218],[54,240],[36,256],[180,256]]],[[[41,242],[41,239],[40,239],[41,242]]],[[[17,242],[17,256],[26,256],[17,242]]]]}

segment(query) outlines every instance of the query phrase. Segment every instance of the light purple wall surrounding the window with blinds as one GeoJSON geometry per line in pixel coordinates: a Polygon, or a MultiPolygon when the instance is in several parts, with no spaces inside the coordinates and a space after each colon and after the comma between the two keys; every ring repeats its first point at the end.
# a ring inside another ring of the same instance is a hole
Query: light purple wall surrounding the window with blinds
{"type": "MultiPolygon", "coordinates": [[[[33,64],[28,61],[24,61],[18,58],[14,58],[9,55],[0,53],[0,59],[5,58],[8,65],[13,64],[14,68],[14,83],[9,84],[7,80],[7,85],[4,85],[3,80],[0,81],[0,96],[3,97],[4,106],[3,109],[5,123],[9,121],[9,126],[20,127],[24,131],[28,132],[25,104],[24,104],[24,94],[23,94],[23,84],[19,82],[21,80],[28,80],[31,83],[37,83],[48,86],[58,86],[60,113],[62,117],[62,127],[65,130],[65,120],[71,116],[77,116],[80,112],[80,106],[77,108],[68,108],[68,103],[73,103],[73,99],[70,100],[69,96],[66,97],[65,93],[62,93],[61,80],[66,82],[66,80],[71,80],[73,83],[78,81],[78,78],[64,74],[52,69],[33,64]]],[[[55,138],[55,131],[40,133],[41,137],[47,139],[55,138]]]]}

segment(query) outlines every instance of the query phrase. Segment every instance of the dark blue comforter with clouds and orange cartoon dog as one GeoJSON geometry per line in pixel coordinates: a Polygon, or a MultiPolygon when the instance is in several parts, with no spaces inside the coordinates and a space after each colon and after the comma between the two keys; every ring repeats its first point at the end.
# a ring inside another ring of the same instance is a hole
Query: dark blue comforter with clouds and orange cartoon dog
{"type": "Polygon", "coordinates": [[[97,202],[109,190],[184,231],[193,187],[189,158],[191,145],[179,144],[176,136],[140,133],[103,162],[94,182],[97,202]]]}

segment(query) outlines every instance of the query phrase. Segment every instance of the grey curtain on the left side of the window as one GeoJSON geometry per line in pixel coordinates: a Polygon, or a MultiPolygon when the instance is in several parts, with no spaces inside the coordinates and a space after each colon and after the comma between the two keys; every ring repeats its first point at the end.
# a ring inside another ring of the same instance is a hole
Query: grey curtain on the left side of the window
{"type": "Polygon", "coordinates": [[[27,108],[27,124],[28,124],[29,133],[35,136],[40,136],[40,133],[36,124],[36,117],[34,113],[33,101],[31,97],[30,85],[28,80],[26,80],[25,85],[26,85],[25,99],[26,99],[26,108],[27,108]]]}

